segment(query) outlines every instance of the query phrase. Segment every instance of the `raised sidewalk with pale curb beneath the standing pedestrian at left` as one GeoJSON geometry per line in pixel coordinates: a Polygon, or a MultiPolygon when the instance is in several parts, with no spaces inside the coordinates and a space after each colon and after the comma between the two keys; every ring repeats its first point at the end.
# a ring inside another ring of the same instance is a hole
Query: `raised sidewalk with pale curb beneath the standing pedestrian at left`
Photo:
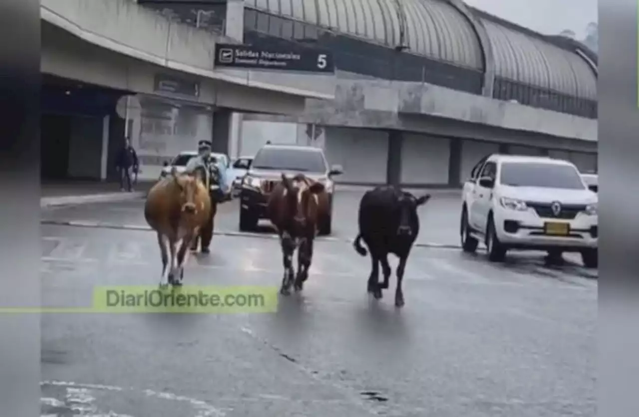
{"type": "Polygon", "coordinates": [[[98,181],[65,181],[42,183],[40,208],[141,199],[146,195],[151,182],[137,183],[134,192],[121,192],[118,183],[98,181]]]}

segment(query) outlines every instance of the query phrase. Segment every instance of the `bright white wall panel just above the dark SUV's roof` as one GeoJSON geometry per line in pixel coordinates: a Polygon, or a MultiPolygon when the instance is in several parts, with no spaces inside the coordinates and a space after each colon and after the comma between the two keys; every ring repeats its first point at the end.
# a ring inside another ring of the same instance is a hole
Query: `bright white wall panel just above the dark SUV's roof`
{"type": "Polygon", "coordinates": [[[297,123],[244,120],[239,136],[238,155],[255,155],[268,140],[273,144],[296,144],[297,123]]]}

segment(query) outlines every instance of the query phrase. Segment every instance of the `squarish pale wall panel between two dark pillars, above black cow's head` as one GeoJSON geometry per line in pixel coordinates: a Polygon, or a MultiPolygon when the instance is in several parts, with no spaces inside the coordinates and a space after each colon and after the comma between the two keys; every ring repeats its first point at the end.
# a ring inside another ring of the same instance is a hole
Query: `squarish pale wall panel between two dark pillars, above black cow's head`
{"type": "Polygon", "coordinates": [[[447,184],[450,140],[404,134],[401,149],[402,184],[447,184]]]}

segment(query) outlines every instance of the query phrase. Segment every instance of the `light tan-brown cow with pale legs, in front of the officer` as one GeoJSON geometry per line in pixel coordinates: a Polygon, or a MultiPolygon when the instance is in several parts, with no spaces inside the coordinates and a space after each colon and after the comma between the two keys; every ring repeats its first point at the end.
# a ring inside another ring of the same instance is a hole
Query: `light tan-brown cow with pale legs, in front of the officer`
{"type": "Polygon", "coordinates": [[[144,204],[144,218],[158,236],[160,286],[181,285],[189,246],[210,216],[211,201],[198,174],[180,175],[173,169],[171,175],[153,185],[144,204]]]}

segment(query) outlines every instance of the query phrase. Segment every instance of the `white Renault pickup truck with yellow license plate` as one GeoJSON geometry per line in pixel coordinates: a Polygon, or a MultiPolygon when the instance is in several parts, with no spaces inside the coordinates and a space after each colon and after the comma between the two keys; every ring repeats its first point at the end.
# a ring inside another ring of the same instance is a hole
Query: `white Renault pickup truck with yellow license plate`
{"type": "Polygon", "coordinates": [[[546,156],[489,155],[463,186],[461,246],[486,245],[488,259],[507,250],[544,250],[551,256],[579,252],[597,267],[597,193],[573,163],[546,156]]]}

